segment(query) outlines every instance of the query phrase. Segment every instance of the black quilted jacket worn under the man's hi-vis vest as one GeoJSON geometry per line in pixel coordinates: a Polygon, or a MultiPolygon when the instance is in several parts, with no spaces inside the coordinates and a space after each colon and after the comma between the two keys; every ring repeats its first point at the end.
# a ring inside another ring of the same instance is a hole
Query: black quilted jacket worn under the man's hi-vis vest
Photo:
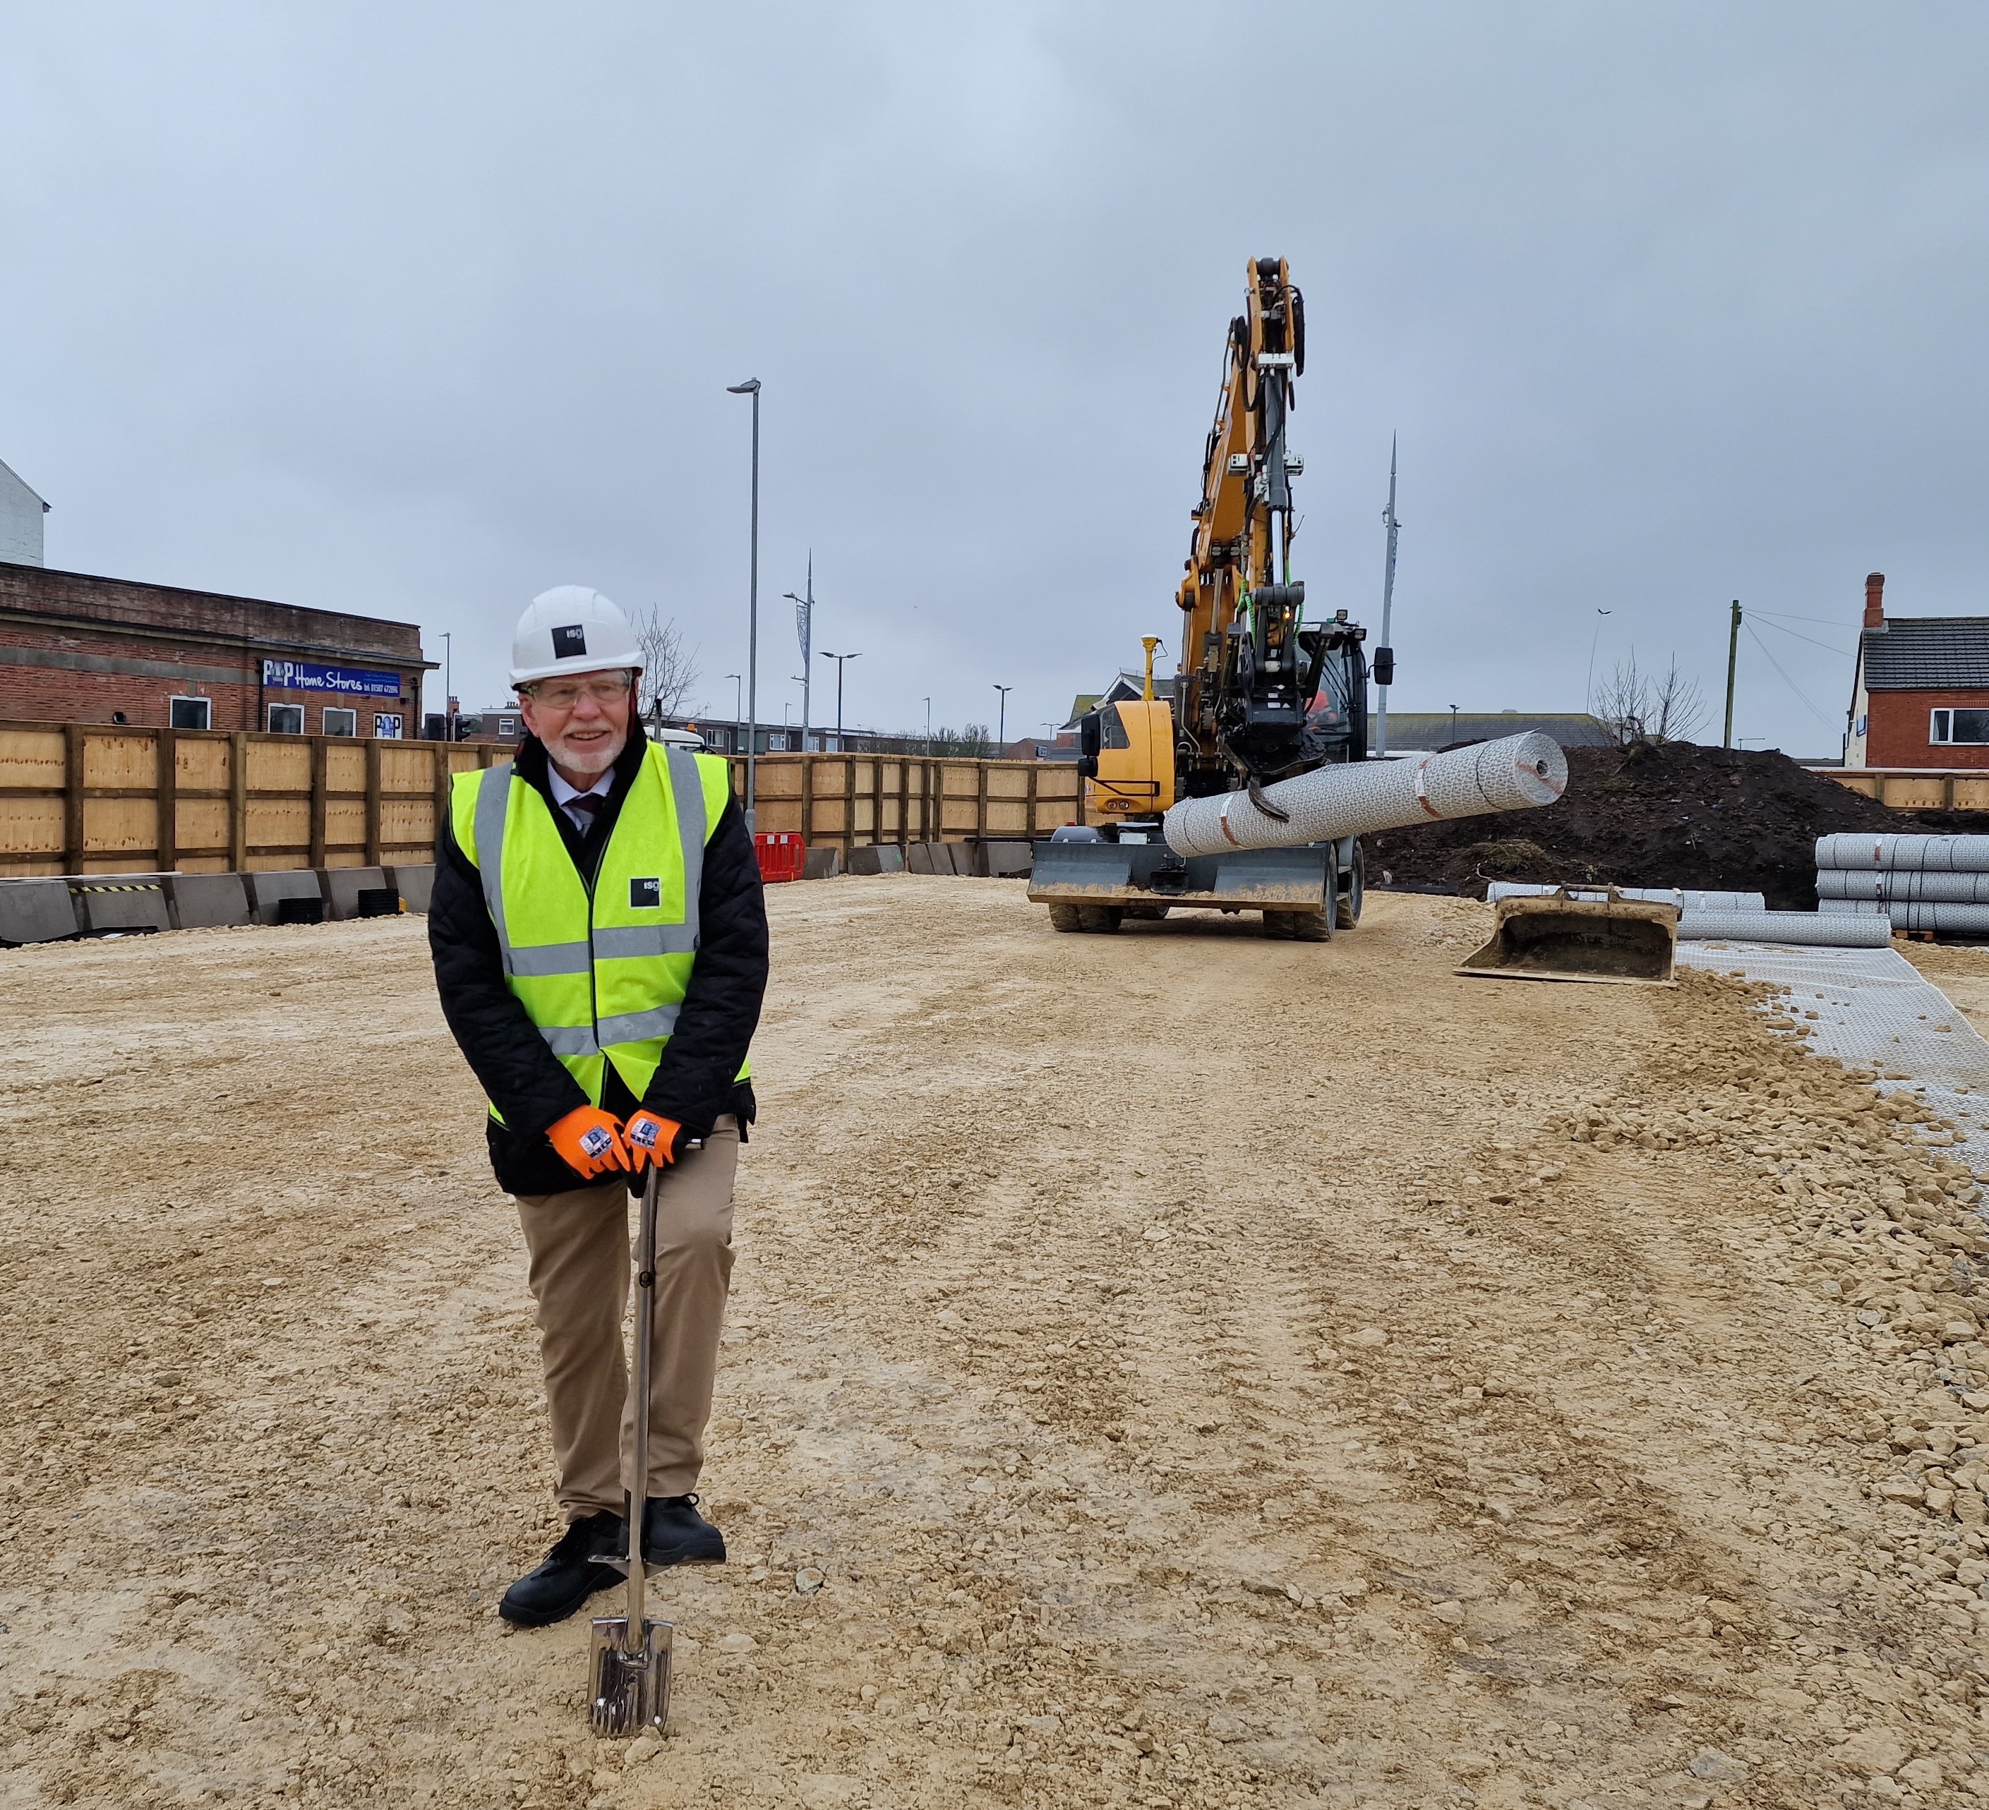
{"type": "MultiPolygon", "coordinates": [[[[615,764],[615,786],[593,827],[583,837],[563,810],[553,821],[567,843],[573,865],[591,883],[601,867],[609,833],[642,766],[644,742],[629,740],[615,764]]],[[[517,774],[537,786],[551,806],[543,744],[525,740],[517,750],[517,774]]],[[[503,1124],[489,1120],[491,1168],[505,1193],[559,1193],[585,1185],[547,1142],[545,1132],[587,1096],[559,1066],[525,1008],[503,985],[503,957],[497,927],[483,903],[483,881],[469,857],[455,845],[450,823],[442,825],[436,849],[436,891],[428,907],[428,947],[436,959],[436,991],[442,1016],[475,1070],[483,1092],[497,1104],[503,1124]]],[[[648,1090],[636,1102],[609,1064],[601,1104],[617,1118],[636,1106],[676,1120],[692,1138],[710,1132],[722,1112],[738,1116],[740,1130],[754,1118],[750,1082],[736,1082],[740,1062],[760,1022],[766,993],[766,897],[760,863],[738,802],[726,806],[704,845],[704,885],[698,893],[698,957],[690,987],[676,1018],[676,1030],[662,1048],[648,1090]]]]}

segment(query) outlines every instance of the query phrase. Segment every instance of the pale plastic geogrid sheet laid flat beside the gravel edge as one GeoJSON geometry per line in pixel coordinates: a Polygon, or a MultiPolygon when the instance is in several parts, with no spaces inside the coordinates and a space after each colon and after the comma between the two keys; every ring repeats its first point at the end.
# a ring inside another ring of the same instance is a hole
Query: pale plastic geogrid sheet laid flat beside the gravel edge
{"type": "Polygon", "coordinates": [[[1989,1174],[1989,1042],[1898,949],[1681,943],[1679,961],[1786,987],[1812,1050],[1876,1070],[1886,1092],[1909,1088],[1963,1134],[1953,1154],[1989,1174]]]}

